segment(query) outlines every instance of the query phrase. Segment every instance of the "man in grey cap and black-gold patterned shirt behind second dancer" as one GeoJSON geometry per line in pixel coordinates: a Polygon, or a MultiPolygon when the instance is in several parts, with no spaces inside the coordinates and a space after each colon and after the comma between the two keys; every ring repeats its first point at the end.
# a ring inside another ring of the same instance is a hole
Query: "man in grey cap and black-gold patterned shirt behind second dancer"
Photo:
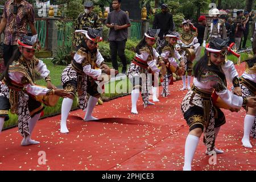
{"type": "MultiPolygon", "coordinates": [[[[97,14],[92,13],[93,10],[93,2],[85,1],[84,2],[84,13],[81,13],[79,17],[76,19],[75,30],[85,30],[89,27],[91,28],[101,28],[103,25],[101,23],[100,17],[97,14]]],[[[73,44],[76,46],[76,49],[79,49],[84,40],[84,34],[74,34],[73,36],[73,44]]]]}

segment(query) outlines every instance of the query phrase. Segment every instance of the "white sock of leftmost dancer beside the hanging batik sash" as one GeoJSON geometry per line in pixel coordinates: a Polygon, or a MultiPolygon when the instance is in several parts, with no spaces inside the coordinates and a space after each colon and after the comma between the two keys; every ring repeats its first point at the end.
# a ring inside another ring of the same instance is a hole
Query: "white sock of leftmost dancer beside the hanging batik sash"
{"type": "Polygon", "coordinates": [[[32,117],[30,119],[30,121],[28,121],[28,128],[30,129],[30,135],[23,138],[23,140],[21,142],[21,146],[28,146],[28,145],[31,145],[31,144],[39,144],[40,143],[36,140],[31,139],[32,132],[33,132],[33,130],[35,128],[35,125],[36,125],[36,122],[38,121],[40,116],[41,116],[41,113],[38,113],[38,114],[34,115],[34,117],[32,117]]]}

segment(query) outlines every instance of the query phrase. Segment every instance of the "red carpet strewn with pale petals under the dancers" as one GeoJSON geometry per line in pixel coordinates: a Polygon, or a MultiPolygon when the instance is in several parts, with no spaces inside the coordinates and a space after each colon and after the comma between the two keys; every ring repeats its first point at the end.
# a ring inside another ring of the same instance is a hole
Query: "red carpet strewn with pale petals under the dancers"
{"type": "MultiPolygon", "coordinates": [[[[241,75],[245,64],[236,66],[241,75]]],[[[84,112],[68,117],[69,134],[61,134],[60,115],[40,120],[32,139],[40,144],[21,147],[17,128],[0,134],[0,170],[181,170],[188,127],[180,111],[187,91],[180,91],[181,81],[169,85],[170,95],[143,108],[138,101],[138,115],[130,113],[131,96],[96,106],[96,122],[84,122],[84,112]],[[46,164],[42,164],[46,154],[46,164]]],[[[229,85],[230,86],[230,85],[229,85]]],[[[160,87],[159,92],[162,92],[160,87]]],[[[193,170],[256,170],[255,139],[253,148],[242,146],[245,110],[225,111],[216,147],[216,165],[209,164],[202,137],[192,163],[193,170]]]]}

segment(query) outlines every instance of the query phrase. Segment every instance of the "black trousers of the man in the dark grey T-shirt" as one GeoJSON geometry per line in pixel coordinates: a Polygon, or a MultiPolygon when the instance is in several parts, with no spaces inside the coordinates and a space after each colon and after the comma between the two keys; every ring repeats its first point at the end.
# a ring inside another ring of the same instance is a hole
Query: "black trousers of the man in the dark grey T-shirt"
{"type": "Polygon", "coordinates": [[[111,52],[111,60],[113,68],[118,70],[117,55],[120,57],[123,67],[122,72],[126,71],[127,61],[125,57],[125,44],[127,39],[122,41],[109,41],[109,48],[111,52]]]}

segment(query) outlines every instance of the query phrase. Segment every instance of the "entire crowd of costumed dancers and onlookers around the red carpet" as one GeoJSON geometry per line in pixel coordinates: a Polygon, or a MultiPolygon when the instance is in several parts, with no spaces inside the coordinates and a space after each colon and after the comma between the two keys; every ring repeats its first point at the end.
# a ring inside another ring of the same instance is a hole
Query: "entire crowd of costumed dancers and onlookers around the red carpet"
{"type": "MultiPolygon", "coordinates": [[[[169,85],[174,84],[173,74],[182,77],[180,94],[184,94],[184,90],[188,91],[181,103],[181,113],[189,126],[183,170],[191,170],[193,155],[202,134],[206,154],[224,152],[214,144],[221,126],[226,122],[225,114],[220,108],[230,111],[239,111],[241,107],[246,109],[242,144],[252,148],[250,134],[256,137],[256,58],[254,56],[246,60],[242,76],[238,76],[233,62],[227,59],[228,53],[240,57],[232,47],[236,45],[236,49],[239,48],[241,31],[246,38],[249,18],[238,23],[238,13],[234,27],[228,24],[230,19],[225,22],[226,18],[219,17],[220,12],[213,9],[213,19],[210,22],[204,16],[200,16],[199,23],[196,24],[183,20],[181,31],[176,32],[172,15],[167,13],[168,6],[163,4],[162,13],[155,16],[153,28],[144,32],[142,40],[135,47],[134,59],[127,69],[124,51],[127,28],[131,23],[127,14],[121,10],[121,0],[113,0],[112,6],[113,11],[106,19],[106,26],[110,28],[110,53],[114,69],[108,67],[97,48],[98,42],[102,41],[102,24],[98,15],[92,13],[93,3],[85,1],[85,12],[79,15],[75,25],[73,43],[76,53],[61,75],[63,89],[57,89],[51,83],[46,64],[35,57],[35,50],[40,45],[36,31],[32,30],[35,23],[34,10],[24,0],[6,2],[0,24],[0,32],[5,28],[6,65],[0,79],[0,132],[11,110],[18,114],[18,130],[23,137],[21,146],[38,144],[38,141],[31,139],[31,134],[44,109],[44,105],[38,100],[39,96],[64,97],[61,106],[61,133],[69,133],[67,118],[76,94],[80,108],[85,111],[84,121],[96,121],[98,118],[93,117],[92,113],[102,90],[98,85],[102,76],[107,75],[109,78],[112,73],[118,74],[118,55],[122,61],[122,73],[127,71],[127,77],[133,85],[132,114],[139,114],[137,101],[140,93],[144,107],[155,105],[154,102],[159,102],[159,85],[163,86],[160,95],[167,97],[170,94],[169,85]],[[27,35],[27,24],[34,35],[27,35]],[[154,48],[155,43],[158,44],[157,48],[154,48]],[[200,56],[202,46],[205,47],[203,57],[200,56]],[[193,66],[194,60],[197,63],[193,66]],[[195,74],[193,80],[192,71],[195,74]],[[46,80],[47,88],[35,84],[36,73],[46,80]],[[227,88],[227,82],[233,84],[232,90],[227,88]],[[149,101],[150,92],[153,95],[152,102],[149,101]]],[[[246,12],[244,15],[250,17],[246,12]]],[[[242,43],[242,48],[243,45],[246,43],[242,43]]],[[[253,52],[256,53],[256,48],[253,52]]]]}

